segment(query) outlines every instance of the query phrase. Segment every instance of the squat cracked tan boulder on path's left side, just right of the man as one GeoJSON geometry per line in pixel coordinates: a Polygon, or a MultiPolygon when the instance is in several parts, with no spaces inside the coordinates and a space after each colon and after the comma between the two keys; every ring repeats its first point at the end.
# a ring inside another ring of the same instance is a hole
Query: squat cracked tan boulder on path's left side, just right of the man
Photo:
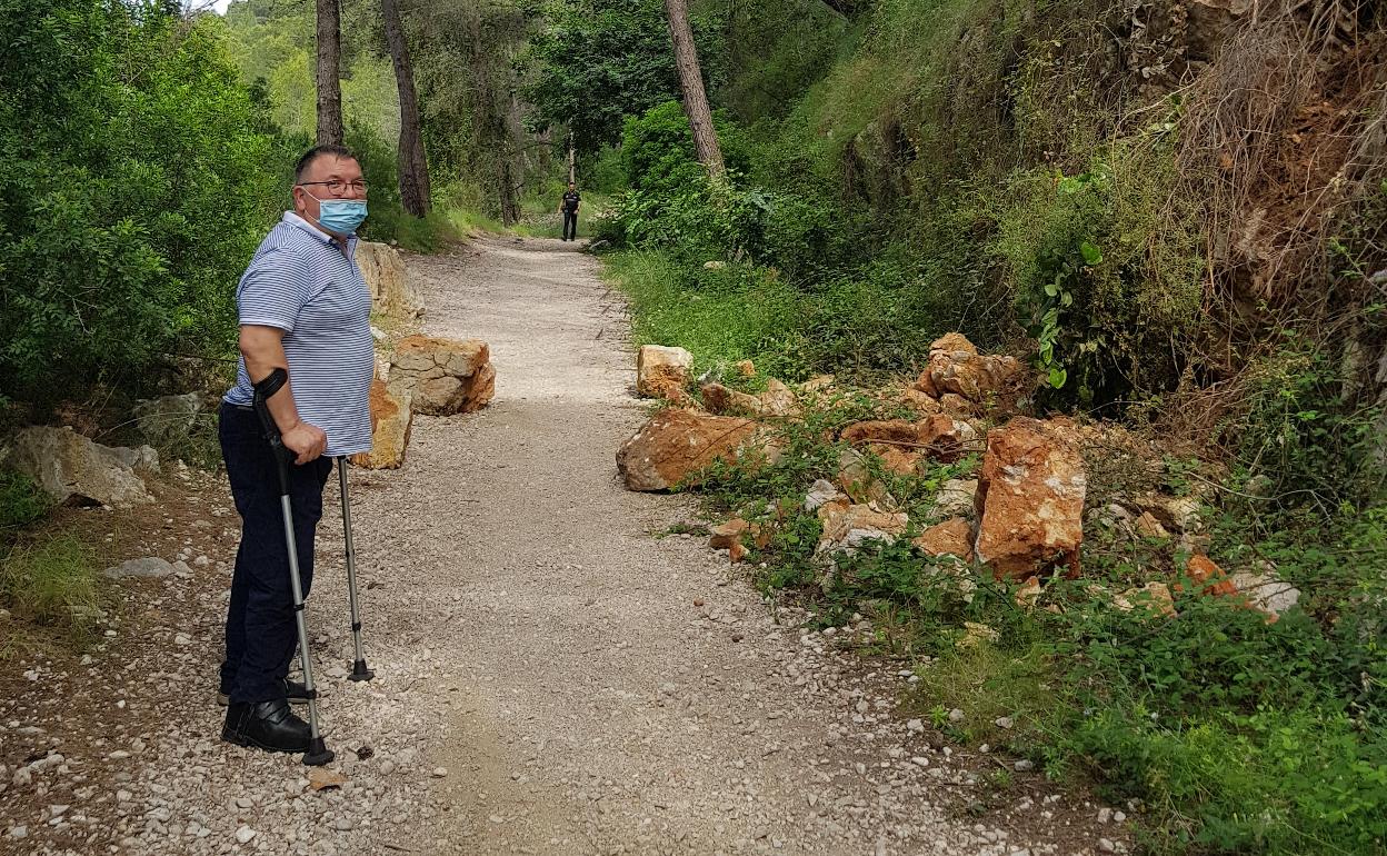
{"type": "Polygon", "coordinates": [[[408,394],[419,413],[472,413],[495,395],[497,369],[481,340],[409,336],[395,345],[388,387],[397,398],[408,394]]]}

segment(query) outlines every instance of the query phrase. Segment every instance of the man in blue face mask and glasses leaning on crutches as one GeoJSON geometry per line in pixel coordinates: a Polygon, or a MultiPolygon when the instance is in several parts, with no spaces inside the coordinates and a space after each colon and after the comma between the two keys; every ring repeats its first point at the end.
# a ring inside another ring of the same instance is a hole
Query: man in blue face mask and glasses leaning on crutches
{"type": "Polygon", "coordinates": [[[221,408],[226,474],[241,516],[221,694],[222,739],[272,752],[305,752],[308,723],[288,702],[307,701],[288,680],[297,633],[288,549],[273,452],[254,411],[255,384],[275,369],[288,383],[266,402],[290,466],[290,504],[307,597],[313,531],[331,459],[370,450],[368,394],[374,373],[370,293],[352,254],[366,218],[361,164],[319,146],[294,169],[294,209],[270,230],[236,289],[240,351],[236,386],[221,408]]]}

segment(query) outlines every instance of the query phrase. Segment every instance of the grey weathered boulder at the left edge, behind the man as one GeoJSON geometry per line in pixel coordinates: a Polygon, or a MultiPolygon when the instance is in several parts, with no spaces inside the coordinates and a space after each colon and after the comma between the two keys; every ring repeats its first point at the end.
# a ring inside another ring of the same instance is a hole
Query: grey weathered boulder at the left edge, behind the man
{"type": "Polygon", "coordinates": [[[21,429],[0,445],[0,468],[33,479],[58,502],[85,505],[153,502],[139,472],[157,473],[158,461],[147,445],[111,448],[71,427],[21,429]]]}

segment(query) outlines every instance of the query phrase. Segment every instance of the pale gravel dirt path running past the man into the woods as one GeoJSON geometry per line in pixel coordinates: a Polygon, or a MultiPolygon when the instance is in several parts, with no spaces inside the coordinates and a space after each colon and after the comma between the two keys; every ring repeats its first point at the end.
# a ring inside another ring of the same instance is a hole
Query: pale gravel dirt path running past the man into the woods
{"type": "Polygon", "coordinates": [[[870,624],[802,630],[705,538],[653,537],[692,511],[617,481],[644,409],[596,261],[495,239],[411,269],[427,333],[491,344],[497,398],[417,418],[401,470],[352,473],[369,684],[344,680],[330,486],[309,622],[345,782],[216,739],[234,515],[222,480],[183,473],[157,509],[92,523],[183,572],[123,583],[92,656],[0,673],[0,852],[1100,849],[1096,806],[1021,773],[988,787],[1010,762],[899,716],[908,673],[839,649],[870,624]]]}

